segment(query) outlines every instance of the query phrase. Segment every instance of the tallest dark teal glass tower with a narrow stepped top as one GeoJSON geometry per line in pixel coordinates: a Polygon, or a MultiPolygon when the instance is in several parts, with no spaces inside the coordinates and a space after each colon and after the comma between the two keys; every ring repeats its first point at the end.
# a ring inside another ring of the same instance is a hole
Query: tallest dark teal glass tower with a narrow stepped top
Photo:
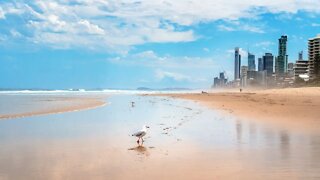
{"type": "Polygon", "coordinates": [[[275,73],[278,76],[288,72],[287,41],[287,36],[281,36],[279,39],[278,57],[275,60],[275,73]]]}

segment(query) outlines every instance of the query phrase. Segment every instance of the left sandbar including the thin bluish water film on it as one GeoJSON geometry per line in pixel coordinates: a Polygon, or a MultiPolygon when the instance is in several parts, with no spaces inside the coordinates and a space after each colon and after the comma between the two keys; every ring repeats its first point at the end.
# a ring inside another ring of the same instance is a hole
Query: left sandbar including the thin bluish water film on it
{"type": "Polygon", "coordinates": [[[106,105],[106,102],[102,101],[101,98],[86,96],[65,97],[32,95],[29,96],[28,99],[20,98],[17,102],[12,103],[11,101],[6,101],[6,98],[3,98],[2,95],[2,97],[0,96],[0,101],[3,111],[0,112],[0,120],[80,111],[106,105]],[[12,111],[12,109],[16,110],[12,111]]]}

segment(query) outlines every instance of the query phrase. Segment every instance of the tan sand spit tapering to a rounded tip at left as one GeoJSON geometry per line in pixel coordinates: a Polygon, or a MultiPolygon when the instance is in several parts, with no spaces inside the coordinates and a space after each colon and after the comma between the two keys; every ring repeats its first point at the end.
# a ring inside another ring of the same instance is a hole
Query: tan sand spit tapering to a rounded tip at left
{"type": "MultiPolygon", "coordinates": [[[[11,118],[22,118],[36,115],[56,114],[64,112],[72,112],[79,110],[92,109],[99,106],[104,106],[106,103],[99,98],[88,98],[88,97],[47,97],[41,99],[43,106],[45,107],[34,107],[34,110],[27,112],[8,113],[0,114],[0,119],[11,119],[11,118]]],[[[36,102],[36,101],[34,101],[36,102]]],[[[32,103],[31,102],[31,105],[32,103]]],[[[32,109],[32,108],[31,108],[32,109]]]]}

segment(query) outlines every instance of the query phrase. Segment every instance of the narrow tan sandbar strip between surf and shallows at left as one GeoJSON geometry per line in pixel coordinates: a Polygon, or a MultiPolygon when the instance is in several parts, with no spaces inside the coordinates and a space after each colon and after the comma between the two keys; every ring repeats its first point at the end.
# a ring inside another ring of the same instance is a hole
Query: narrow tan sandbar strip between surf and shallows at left
{"type": "MultiPolygon", "coordinates": [[[[61,100],[55,99],[53,101],[58,102],[61,100]]],[[[0,114],[0,120],[25,118],[25,117],[41,116],[41,115],[49,115],[49,114],[60,114],[60,113],[75,112],[75,111],[85,111],[89,109],[102,107],[107,104],[106,102],[98,98],[65,97],[62,99],[62,101],[73,103],[73,104],[62,103],[62,104],[51,105],[51,107],[48,107],[47,109],[43,109],[43,110],[35,110],[35,111],[23,112],[23,113],[0,114]]]]}

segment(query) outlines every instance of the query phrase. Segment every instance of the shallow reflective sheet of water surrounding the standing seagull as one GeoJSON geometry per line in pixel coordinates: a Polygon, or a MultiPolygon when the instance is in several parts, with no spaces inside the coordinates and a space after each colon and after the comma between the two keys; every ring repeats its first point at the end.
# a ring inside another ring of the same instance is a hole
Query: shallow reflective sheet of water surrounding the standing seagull
{"type": "Polygon", "coordinates": [[[87,111],[0,121],[0,179],[320,178],[320,135],[187,100],[114,95],[106,101],[87,111]],[[139,147],[130,134],[144,124],[151,128],[139,147]]]}

